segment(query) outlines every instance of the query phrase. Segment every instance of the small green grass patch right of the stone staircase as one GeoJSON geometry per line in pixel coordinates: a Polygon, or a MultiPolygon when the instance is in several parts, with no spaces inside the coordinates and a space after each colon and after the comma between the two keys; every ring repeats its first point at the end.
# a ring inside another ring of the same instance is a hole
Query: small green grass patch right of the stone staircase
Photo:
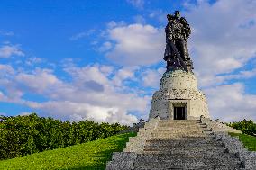
{"type": "Polygon", "coordinates": [[[248,150],[256,151],[256,137],[246,134],[238,134],[238,133],[229,133],[232,137],[239,137],[239,140],[242,141],[244,147],[248,148],[248,150]]]}

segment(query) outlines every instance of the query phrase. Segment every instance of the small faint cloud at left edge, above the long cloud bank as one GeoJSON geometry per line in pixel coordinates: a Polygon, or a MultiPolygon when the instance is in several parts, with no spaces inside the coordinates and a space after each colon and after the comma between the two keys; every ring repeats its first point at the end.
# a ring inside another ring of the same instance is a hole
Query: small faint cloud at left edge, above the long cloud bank
{"type": "Polygon", "coordinates": [[[18,45],[4,45],[0,48],[0,58],[10,58],[11,56],[24,56],[18,45]]]}

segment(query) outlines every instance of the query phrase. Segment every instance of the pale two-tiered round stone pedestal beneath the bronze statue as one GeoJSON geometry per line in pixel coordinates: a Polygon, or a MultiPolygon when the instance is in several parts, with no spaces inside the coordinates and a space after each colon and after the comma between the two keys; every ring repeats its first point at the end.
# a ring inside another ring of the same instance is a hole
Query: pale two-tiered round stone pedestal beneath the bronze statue
{"type": "Polygon", "coordinates": [[[164,73],[160,90],[153,94],[150,119],[175,119],[175,107],[185,108],[185,119],[196,120],[203,115],[209,118],[206,96],[197,88],[197,78],[192,72],[175,70],[164,73]]]}

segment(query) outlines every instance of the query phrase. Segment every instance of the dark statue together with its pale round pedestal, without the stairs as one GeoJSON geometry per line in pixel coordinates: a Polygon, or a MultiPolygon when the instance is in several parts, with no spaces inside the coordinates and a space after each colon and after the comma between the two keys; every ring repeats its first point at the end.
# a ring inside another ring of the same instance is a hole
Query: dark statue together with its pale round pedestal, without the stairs
{"type": "Polygon", "coordinates": [[[184,17],[176,11],[167,15],[164,60],[167,70],[160,80],[160,90],[151,101],[150,119],[159,116],[169,120],[209,118],[206,96],[197,88],[193,62],[189,57],[187,39],[191,33],[184,17]]]}

